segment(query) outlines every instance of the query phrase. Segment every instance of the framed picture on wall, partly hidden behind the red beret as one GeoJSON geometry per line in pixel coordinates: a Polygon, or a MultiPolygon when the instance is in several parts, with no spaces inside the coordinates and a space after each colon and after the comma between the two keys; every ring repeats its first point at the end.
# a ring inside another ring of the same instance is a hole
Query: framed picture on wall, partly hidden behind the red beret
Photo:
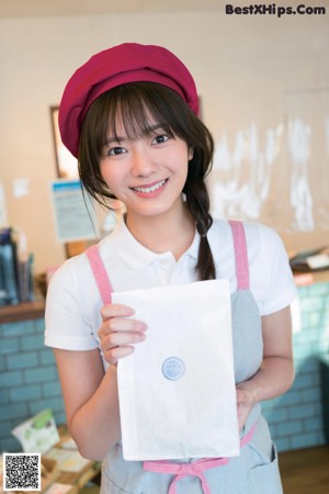
{"type": "Polygon", "coordinates": [[[78,160],[61,142],[58,127],[58,106],[50,106],[54,135],[55,157],[58,178],[71,179],[78,177],[78,160]]]}

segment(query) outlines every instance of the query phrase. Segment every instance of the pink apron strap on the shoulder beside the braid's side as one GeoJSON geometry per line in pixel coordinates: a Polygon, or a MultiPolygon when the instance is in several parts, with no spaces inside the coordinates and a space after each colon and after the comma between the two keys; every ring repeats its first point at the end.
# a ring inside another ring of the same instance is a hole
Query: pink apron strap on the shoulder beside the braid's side
{"type": "Polygon", "coordinates": [[[247,242],[242,222],[229,221],[234,237],[236,271],[237,271],[237,290],[249,289],[249,266],[247,254],[247,242]]]}

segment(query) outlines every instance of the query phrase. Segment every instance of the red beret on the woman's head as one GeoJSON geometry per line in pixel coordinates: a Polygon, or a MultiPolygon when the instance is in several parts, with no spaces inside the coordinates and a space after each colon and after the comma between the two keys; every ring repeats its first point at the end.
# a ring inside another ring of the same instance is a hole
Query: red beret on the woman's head
{"type": "Polygon", "coordinates": [[[161,46],[124,43],[93,55],[69,79],[59,105],[61,141],[78,156],[81,125],[91,103],[127,82],[158,82],[178,92],[197,114],[194,80],[184,64],[161,46]]]}

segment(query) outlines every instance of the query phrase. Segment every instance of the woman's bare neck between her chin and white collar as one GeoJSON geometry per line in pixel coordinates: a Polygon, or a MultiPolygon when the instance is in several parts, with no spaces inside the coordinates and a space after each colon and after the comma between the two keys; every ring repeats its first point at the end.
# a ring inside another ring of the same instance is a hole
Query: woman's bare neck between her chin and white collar
{"type": "Polygon", "coordinates": [[[144,247],[157,254],[171,251],[178,260],[190,247],[195,235],[195,222],[182,204],[180,214],[158,216],[126,215],[126,225],[131,234],[144,247]]]}

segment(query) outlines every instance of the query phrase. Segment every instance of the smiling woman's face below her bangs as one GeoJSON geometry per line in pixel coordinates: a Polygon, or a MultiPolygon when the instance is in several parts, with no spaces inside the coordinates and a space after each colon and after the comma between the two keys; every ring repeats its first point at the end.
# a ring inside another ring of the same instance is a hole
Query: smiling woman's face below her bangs
{"type": "Polygon", "coordinates": [[[155,217],[181,207],[181,193],[193,153],[184,141],[149,122],[151,134],[127,137],[121,119],[107,132],[100,170],[113,194],[125,203],[129,220],[155,217]]]}

